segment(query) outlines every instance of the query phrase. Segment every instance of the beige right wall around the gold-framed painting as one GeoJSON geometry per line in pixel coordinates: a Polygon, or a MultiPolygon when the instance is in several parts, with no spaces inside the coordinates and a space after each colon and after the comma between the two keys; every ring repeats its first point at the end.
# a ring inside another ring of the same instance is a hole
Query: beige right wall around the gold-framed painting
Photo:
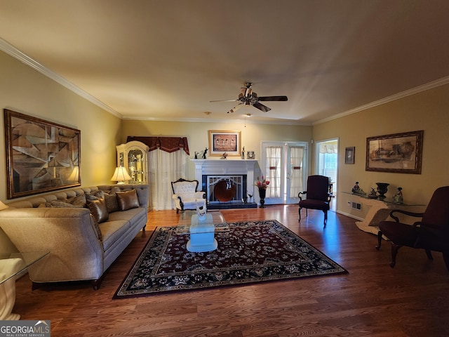
{"type": "MultiPolygon", "coordinates": [[[[314,126],[314,140],[339,138],[340,192],[350,191],[356,181],[365,192],[376,182],[389,183],[387,197],[403,187],[404,202],[427,204],[437,187],[449,185],[445,169],[449,156],[445,142],[449,141],[449,85],[411,95],[363,112],[314,126]],[[383,173],[365,171],[366,138],[393,133],[424,130],[422,174],[383,173]],[[345,147],[355,146],[355,164],[344,164],[345,147]]],[[[337,210],[354,213],[347,206],[347,196],[339,194],[337,210]]]]}

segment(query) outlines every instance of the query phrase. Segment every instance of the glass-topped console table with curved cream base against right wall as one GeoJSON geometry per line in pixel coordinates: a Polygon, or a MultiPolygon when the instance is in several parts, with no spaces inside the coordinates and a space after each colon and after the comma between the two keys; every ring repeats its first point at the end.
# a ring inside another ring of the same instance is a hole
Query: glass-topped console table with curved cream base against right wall
{"type": "Polygon", "coordinates": [[[426,206],[422,204],[398,204],[391,198],[371,199],[367,195],[342,192],[363,199],[363,204],[371,206],[363,221],[356,221],[356,226],[364,232],[376,234],[379,232],[378,224],[389,217],[393,209],[401,209],[410,206],[426,206]]]}

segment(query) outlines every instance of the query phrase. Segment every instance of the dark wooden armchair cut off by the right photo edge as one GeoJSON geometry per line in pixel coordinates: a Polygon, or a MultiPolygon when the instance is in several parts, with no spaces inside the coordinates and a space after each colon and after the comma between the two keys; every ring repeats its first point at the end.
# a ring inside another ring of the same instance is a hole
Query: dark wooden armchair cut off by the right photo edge
{"type": "Polygon", "coordinates": [[[408,246],[424,249],[430,260],[433,259],[431,251],[443,253],[444,263],[449,270],[449,186],[435,190],[424,213],[393,210],[390,216],[394,221],[379,223],[376,249],[380,249],[382,235],[391,240],[391,267],[396,265],[398,249],[408,246]],[[420,217],[422,220],[407,225],[401,223],[395,213],[420,217]]]}

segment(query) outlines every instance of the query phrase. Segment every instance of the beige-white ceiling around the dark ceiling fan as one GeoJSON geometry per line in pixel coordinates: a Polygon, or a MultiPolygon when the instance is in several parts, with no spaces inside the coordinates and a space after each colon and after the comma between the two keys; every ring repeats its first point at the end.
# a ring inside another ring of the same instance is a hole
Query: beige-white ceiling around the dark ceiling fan
{"type": "Polygon", "coordinates": [[[314,124],[448,83],[448,18],[447,0],[0,0],[0,38],[126,119],[314,124]],[[288,101],[209,102],[246,81],[288,101]]]}

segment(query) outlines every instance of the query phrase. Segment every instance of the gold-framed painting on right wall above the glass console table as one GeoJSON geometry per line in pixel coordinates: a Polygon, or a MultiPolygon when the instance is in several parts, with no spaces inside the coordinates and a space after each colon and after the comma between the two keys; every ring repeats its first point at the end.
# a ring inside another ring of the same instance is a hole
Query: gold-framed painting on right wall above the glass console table
{"type": "Polygon", "coordinates": [[[424,131],[366,138],[366,171],[421,174],[424,131]]]}

